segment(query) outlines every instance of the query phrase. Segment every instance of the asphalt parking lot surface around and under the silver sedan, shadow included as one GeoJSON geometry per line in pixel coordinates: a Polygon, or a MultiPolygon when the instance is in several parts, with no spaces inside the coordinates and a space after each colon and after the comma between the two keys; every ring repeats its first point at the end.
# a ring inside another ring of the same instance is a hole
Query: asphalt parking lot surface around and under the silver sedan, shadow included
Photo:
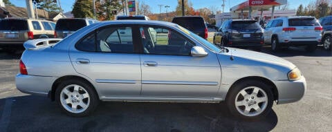
{"type": "Polygon", "coordinates": [[[332,131],[331,51],[262,52],[298,66],[308,89],[299,102],[275,104],[266,119],[249,122],[234,119],[223,102],[102,102],[88,117],[69,117],[48,98],[17,91],[20,55],[0,50],[0,131],[332,131]]]}

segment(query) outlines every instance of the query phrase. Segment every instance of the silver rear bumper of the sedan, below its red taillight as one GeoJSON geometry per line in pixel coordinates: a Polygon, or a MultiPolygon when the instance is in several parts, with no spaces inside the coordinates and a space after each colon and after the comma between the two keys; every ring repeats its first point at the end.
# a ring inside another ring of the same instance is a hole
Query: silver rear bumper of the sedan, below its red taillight
{"type": "Polygon", "coordinates": [[[55,79],[56,77],[17,74],[15,77],[15,83],[16,88],[22,93],[47,97],[48,91],[52,89],[55,79]]]}

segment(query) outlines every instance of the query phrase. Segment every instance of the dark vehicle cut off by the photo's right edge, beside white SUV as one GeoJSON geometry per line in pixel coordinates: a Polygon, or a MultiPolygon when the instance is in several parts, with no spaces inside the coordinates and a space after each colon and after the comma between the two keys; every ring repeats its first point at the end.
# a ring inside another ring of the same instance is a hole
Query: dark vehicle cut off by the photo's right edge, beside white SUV
{"type": "Polygon", "coordinates": [[[325,50],[331,50],[332,44],[332,15],[320,18],[320,25],[323,27],[322,31],[322,45],[325,50]]]}

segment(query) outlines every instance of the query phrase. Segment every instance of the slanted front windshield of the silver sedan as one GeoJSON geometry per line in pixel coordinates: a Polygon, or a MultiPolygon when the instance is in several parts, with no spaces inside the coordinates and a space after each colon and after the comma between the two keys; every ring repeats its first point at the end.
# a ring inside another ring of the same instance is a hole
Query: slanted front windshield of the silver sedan
{"type": "Polygon", "coordinates": [[[219,53],[221,51],[221,49],[218,46],[215,46],[214,44],[210,43],[210,41],[203,39],[203,37],[200,37],[199,35],[194,34],[193,32],[183,28],[182,26],[178,26],[178,25],[176,25],[176,26],[177,26],[177,28],[179,28],[180,30],[185,32],[187,35],[194,37],[194,39],[196,39],[197,41],[201,42],[202,44],[204,44],[205,46],[210,48],[210,50],[213,50],[216,53],[219,53]]]}

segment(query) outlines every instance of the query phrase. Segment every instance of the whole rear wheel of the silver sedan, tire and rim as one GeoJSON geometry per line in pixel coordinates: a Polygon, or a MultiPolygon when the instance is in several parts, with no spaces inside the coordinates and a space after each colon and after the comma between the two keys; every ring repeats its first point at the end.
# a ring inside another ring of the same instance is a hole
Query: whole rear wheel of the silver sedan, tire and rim
{"type": "Polygon", "coordinates": [[[76,117],[89,115],[99,102],[93,87],[77,79],[59,84],[55,91],[55,99],[67,115],[76,117]]]}

